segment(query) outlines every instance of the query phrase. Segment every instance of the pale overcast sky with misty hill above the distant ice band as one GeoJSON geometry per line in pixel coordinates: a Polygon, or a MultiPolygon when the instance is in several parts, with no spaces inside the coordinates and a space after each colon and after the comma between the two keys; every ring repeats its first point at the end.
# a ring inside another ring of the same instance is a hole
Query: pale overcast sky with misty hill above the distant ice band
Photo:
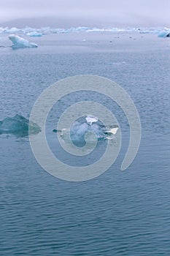
{"type": "Polygon", "coordinates": [[[0,24],[16,26],[12,20],[50,26],[49,20],[76,20],[77,26],[168,26],[169,0],[0,0],[0,24]],[[35,19],[36,18],[36,19],[35,19]],[[38,19],[37,19],[38,18],[38,19]],[[42,18],[42,19],[41,19],[42,18]],[[39,20],[39,21],[38,21],[39,20]],[[10,21],[10,22],[9,22],[10,21]],[[12,23],[13,22],[13,23],[12,23]]]}

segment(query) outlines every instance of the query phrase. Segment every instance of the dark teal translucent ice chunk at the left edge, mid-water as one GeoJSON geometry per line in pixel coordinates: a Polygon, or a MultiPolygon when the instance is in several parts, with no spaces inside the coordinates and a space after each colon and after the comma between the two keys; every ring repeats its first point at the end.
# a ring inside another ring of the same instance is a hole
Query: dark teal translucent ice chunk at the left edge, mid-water
{"type": "Polygon", "coordinates": [[[29,121],[24,116],[15,115],[13,117],[4,118],[0,121],[0,134],[14,134],[18,136],[37,134],[41,132],[38,124],[29,121]]]}

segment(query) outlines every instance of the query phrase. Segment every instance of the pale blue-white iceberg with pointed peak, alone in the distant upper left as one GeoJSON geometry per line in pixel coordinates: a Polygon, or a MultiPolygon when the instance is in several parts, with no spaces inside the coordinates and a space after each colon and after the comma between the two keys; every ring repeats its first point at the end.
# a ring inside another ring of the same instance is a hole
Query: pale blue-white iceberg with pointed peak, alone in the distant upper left
{"type": "Polygon", "coordinates": [[[18,48],[36,48],[38,45],[36,45],[34,42],[28,42],[27,39],[24,39],[23,37],[19,37],[15,34],[10,34],[9,39],[12,41],[13,49],[18,49],[18,48]]]}

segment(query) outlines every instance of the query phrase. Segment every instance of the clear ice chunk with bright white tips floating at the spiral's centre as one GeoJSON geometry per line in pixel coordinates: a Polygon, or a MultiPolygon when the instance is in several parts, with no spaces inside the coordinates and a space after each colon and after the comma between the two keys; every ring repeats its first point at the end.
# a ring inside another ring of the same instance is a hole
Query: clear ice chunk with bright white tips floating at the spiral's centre
{"type": "Polygon", "coordinates": [[[71,139],[73,143],[83,143],[85,140],[112,140],[117,130],[117,125],[105,127],[96,116],[88,115],[77,119],[70,129],[53,131],[60,133],[63,140],[71,139]]]}

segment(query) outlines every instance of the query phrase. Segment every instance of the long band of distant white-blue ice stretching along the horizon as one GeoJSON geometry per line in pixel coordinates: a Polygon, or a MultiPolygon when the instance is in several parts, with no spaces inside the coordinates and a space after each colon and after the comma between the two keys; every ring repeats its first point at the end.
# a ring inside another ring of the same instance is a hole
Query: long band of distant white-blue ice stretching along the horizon
{"type": "Polygon", "coordinates": [[[110,32],[138,32],[142,34],[159,34],[161,31],[165,30],[166,28],[96,28],[96,27],[72,27],[70,29],[59,29],[59,28],[50,28],[50,27],[42,27],[39,29],[31,28],[26,26],[23,29],[18,29],[18,28],[3,28],[0,27],[0,34],[26,34],[31,37],[40,37],[44,34],[62,34],[62,33],[72,33],[72,32],[104,32],[104,31],[110,31],[110,32]]]}

